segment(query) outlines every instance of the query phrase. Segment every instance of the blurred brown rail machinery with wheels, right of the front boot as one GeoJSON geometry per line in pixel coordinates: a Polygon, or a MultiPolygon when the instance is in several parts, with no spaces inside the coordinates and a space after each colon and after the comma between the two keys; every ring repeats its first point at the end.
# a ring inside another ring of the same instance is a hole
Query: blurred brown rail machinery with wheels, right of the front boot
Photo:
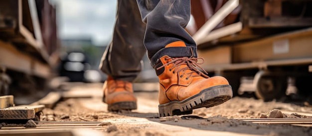
{"type": "Polygon", "coordinates": [[[311,94],[312,0],[191,0],[188,31],[203,68],[234,94],[311,94]]]}

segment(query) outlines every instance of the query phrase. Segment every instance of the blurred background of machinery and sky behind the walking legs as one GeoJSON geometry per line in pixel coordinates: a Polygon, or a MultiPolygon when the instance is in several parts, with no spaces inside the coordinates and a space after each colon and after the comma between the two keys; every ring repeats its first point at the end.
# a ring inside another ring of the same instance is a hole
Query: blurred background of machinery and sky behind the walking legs
{"type": "MultiPolygon", "coordinates": [[[[104,82],[98,67],[116,8],[117,0],[1,0],[0,95],[104,82]]],[[[312,99],[312,0],[191,0],[191,14],[186,30],[202,67],[225,76],[234,95],[312,99]]],[[[157,86],[147,57],[142,64],[136,82],[157,86]]]]}

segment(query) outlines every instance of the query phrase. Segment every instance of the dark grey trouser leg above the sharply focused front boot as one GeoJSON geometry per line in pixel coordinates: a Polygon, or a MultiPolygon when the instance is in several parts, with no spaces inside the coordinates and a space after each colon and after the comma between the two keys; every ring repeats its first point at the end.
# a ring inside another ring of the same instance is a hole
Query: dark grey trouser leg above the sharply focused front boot
{"type": "Polygon", "coordinates": [[[184,29],[190,19],[190,0],[137,1],[142,19],[147,23],[144,44],[153,67],[164,55],[197,57],[196,43],[184,29]],[[184,42],[186,47],[164,48],[175,41],[184,42]]]}

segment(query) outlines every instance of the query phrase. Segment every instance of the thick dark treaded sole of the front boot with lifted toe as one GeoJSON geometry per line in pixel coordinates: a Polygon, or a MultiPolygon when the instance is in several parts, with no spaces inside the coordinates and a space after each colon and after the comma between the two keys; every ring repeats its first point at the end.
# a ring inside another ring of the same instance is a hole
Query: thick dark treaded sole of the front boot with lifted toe
{"type": "Polygon", "coordinates": [[[192,114],[193,109],[213,107],[228,101],[232,96],[230,85],[209,87],[185,100],[158,105],[159,117],[192,114]]]}

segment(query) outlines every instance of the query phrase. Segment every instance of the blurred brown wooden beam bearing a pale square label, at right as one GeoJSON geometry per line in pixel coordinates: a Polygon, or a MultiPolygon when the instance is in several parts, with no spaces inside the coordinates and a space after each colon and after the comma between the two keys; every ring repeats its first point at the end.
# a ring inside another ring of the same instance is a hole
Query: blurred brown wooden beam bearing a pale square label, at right
{"type": "Polygon", "coordinates": [[[235,45],[233,63],[311,58],[311,36],[308,28],[235,45]]]}

